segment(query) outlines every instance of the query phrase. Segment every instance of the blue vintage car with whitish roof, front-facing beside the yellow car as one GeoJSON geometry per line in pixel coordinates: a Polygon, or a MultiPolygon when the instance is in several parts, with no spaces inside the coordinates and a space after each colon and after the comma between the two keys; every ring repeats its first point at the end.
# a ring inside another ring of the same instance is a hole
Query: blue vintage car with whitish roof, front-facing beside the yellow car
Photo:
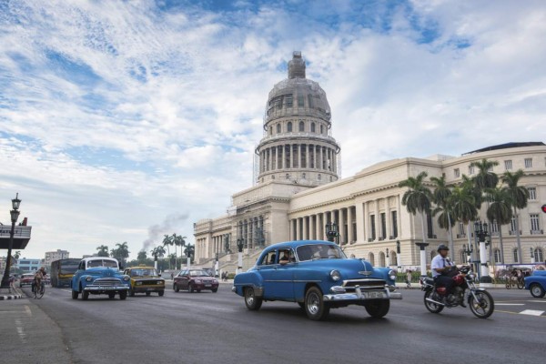
{"type": "Polygon", "coordinates": [[[119,294],[119,299],[126,299],[130,283],[131,278],[119,271],[115,258],[84,258],[72,277],[72,298],[77,299],[81,293],[84,300],[89,298],[89,294],[106,294],[110,299],[119,294]]]}

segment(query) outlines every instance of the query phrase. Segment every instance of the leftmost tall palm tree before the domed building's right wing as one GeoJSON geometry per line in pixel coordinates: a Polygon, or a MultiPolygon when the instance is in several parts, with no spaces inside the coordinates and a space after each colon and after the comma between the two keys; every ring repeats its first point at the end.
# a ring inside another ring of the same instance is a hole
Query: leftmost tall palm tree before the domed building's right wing
{"type": "Polygon", "coordinates": [[[404,195],[402,196],[402,205],[406,206],[410,214],[416,215],[417,212],[420,212],[421,214],[423,243],[427,242],[427,235],[425,234],[425,213],[430,211],[430,200],[432,199],[430,189],[426,187],[423,182],[427,176],[429,176],[427,172],[420,172],[417,177],[409,177],[399,183],[399,187],[408,187],[408,190],[404,192],[404,195]]]}

